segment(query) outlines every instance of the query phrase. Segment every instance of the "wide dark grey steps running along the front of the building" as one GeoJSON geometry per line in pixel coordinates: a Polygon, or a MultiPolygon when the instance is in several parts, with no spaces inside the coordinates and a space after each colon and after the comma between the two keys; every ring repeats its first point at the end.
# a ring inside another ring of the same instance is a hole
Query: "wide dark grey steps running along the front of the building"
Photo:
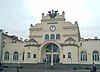
{"type": "MultiPolygon", "coordinates": [[[[32,70],[51,70],[50,63],[43,64],[43,63],[37,63],[37,64],[19,64],[20,66],[23,66],[22,69],[32,69],[32,70]]],[[[3,66],[9,67],[9,68],[15,68],[18,66],[18,64],[3,64],[3,66]]],[[[53,65],[53,70],[89,70],[90,64],[61,64],[61,63],[55,63],[53,65]]],[[[96,65],[97,70],[100,69],[100,64],[96,65]]]]}

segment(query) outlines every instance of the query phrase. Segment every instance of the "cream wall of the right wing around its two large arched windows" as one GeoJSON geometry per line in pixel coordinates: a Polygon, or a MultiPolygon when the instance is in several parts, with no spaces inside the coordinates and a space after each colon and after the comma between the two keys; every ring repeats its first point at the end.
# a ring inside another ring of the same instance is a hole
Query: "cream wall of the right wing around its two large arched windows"
{"type": "MultiPolygon", "coordinates": [[[[87,52],[87,61],[81,62],[83,64],[92,64],[92,52],[93,51],[98,51],[99,52],[99,59],[100,59],[100,41],[99,40],[89,40],[89,41],[82,41],[82,46],[79,48],[79,53],[81,51],[86,51],[87,52]]],[[[99,61],[95,61],[95,63],[100,64],[99,61]]]]}

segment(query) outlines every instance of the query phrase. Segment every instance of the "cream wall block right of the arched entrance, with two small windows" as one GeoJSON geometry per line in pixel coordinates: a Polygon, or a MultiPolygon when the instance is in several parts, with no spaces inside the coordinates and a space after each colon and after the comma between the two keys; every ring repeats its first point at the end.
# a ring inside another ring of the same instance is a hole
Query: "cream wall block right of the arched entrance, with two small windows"
{"type": "Polygon", "coordinates": [[[61,63],[64,63],[64,64],[72,64],[72,63],[77,64],[78,63],[77,46],[64,46],[62,48],[61,63]],[[71,58],[68,58],[68,52],[71,53],[71,58]],[[65,55],[65,58],[63,58],[63,55],[65,55]]]}

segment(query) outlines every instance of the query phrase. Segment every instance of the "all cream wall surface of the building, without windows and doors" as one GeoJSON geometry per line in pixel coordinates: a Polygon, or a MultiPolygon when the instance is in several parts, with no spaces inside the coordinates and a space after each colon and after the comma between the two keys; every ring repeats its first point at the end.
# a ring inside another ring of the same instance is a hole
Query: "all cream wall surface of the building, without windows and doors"
{"type": "MultiPolygon", "coordinates": [[[[44,16],[42,15],[41,23],[36,24],[35,26],[30,26],[30,36],[29,39],[34,38],[40,46],[27,46],[25,47],[26,43],[11,43],[13,39],[5,36],[5,47],[3,48],[3,55],[6,51],[10,53],[10,60],[5,61],[4,63],[38,63],[42,62],[41,54],[44,53],[42,51],[42,48],[44,45],[48,43],[54,43],[59,46],[60,48],[60,62],[64,64],[90,64],[92,63],[92,52],[94,50],[99,51],[100,53],[100,41],[98,40],[91,40],[91,41],[84,41],[81,40],[78,42],[79,35],[78,35],[78,26],[76,24],[72,24],[71,22],[65,22],[64,14],[58,15],[54,22],[58,22],[58,24],[47,24],[50,23],[50,17],[48,15],[44,16]],[[56,30],[54,32],[50,31],[50,26],[55,25],[56,30]],[[35,31],[33,31],[35,29],[35,31]],[[61,39],[60,40],[45,40],[46,34],[60,34],[61,39]],[[35,35],[35,37],[34,37],[35,35]],[[39,36],[38,36],[39,35],[39,36]],[[39,38],[37,38],[39,37],[39,38]],[[72,37],[76,40],[76,43],[78,46],[61,46],[60,44],[66,44],[64,41],[72,37]],[[82,46],[80,46],[79,43],[82,43],[82,46]],[[78,62],[78,47],[79,47],[79,62],[78,62]],[[85,50],[87,52],[87,61],[80,61],[80,52],[85,50]],[[18,51],[19,53],[19,60],[13,61],[13,53],[14,51],[18,51]],[[25,52],[25,60],[22,61],[22,53],[25,52]],[[31,53],[31,58],[27,58],[27,53],[31,53]],[[68,52],[71,52],[72,59],[68,59],[68,52]],[[36,54],[36,58],[33,58],[33,54],[36,54]],[[65,58],[63,58],[63,55],[65,55],[65,58]]],[[[0,52],[1,53],[1,52],[0,52]]],[[[4,58],[3,58],[4,59],[4,58]]],[[[95,62],[97,64],[100,64],[100,61],[95,62]]]]}

